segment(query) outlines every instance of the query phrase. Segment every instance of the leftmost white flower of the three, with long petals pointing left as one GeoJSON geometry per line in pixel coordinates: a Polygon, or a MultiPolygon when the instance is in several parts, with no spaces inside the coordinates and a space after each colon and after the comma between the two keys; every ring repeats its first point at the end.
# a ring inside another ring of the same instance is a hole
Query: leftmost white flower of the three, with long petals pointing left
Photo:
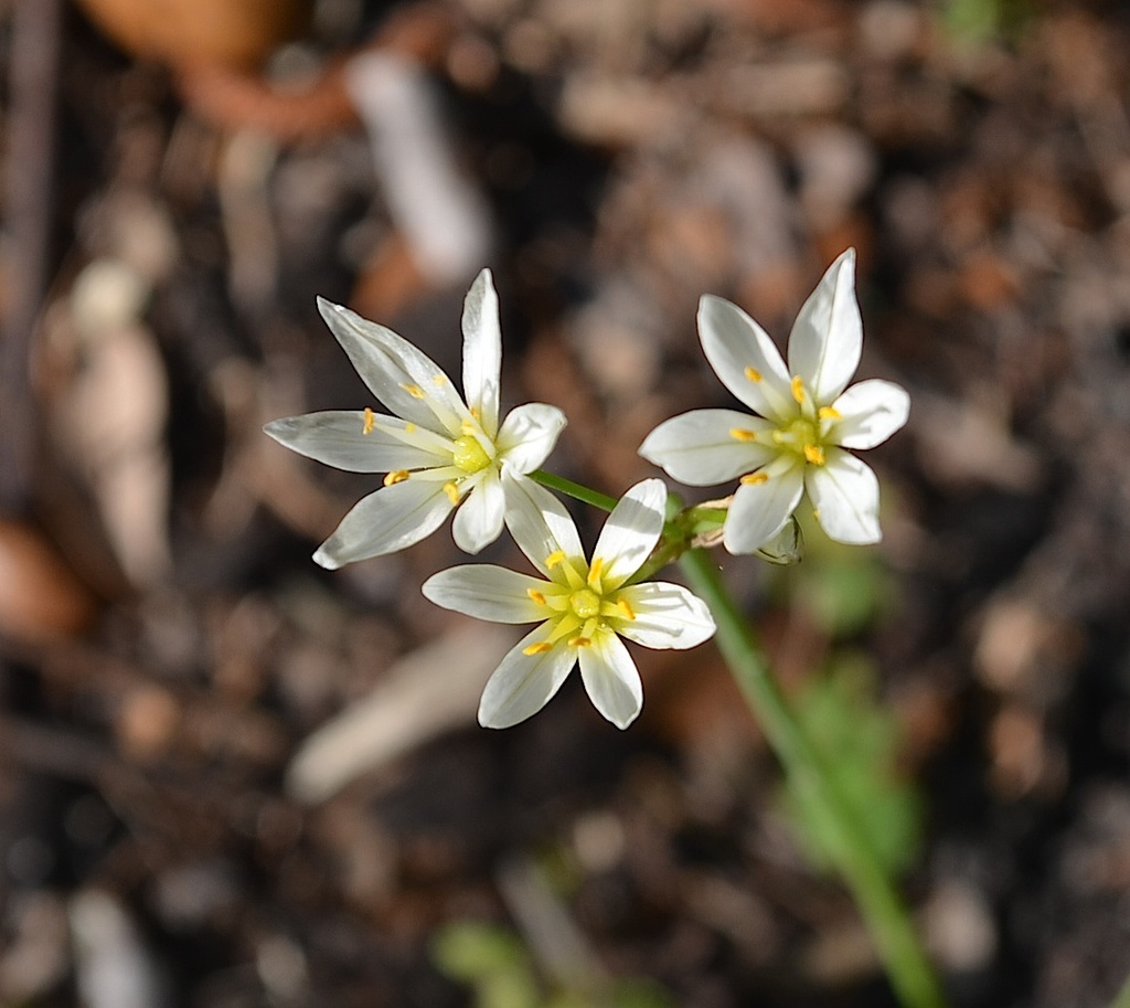
{"type": "Polygon", "coordinates": [[[555,406],[533,402],[499,425],[502,332],[490,271],[463,303],[463,391],[435,362],[392,330],[319,298],[322,318],[373,394],[393,416],[327,411],[273,420],[263,429],[280,444],[350,472],[386,472],[384,487],[363,497],[314,559],[345,564],[405,549],[434,532],[457,507],[452,533],[467,553],[498,538],[505,501],[502,473],[537,469],[565,426],[555,406]]]}

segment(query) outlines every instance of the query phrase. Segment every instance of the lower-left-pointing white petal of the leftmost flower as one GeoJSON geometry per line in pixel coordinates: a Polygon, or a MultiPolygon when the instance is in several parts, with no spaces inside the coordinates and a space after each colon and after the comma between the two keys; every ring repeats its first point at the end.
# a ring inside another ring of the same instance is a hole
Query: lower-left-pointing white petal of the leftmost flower
{"type": "Polygon", "coordinates": [[[431,536],[451,513],[443,484],[406,479],[362,497],[314,554],[329,571],[407,549],[431,536]]]}

